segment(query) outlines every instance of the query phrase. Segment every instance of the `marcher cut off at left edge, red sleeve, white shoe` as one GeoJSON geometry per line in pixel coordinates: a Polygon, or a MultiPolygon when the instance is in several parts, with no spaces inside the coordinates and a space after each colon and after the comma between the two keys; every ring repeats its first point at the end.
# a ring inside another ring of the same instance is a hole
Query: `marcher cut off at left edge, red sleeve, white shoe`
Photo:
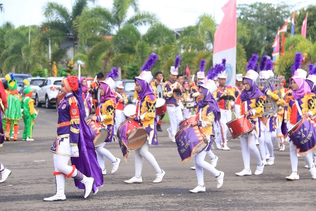
{"type": "MultiPolygon", "coordinates": [[[[7,101],[6,101],[6,94],[4,91],[4,87],[2,82],[0,81],[0,112],[4,113],[5,109],[7,109],[7,101]]],[[[2,118],[0,117],[0,121],[2,124],[2,118]]],[[[2,147],[4,141],[4,131],[3,128],[0,128],[0,147],[2,147]]],[[[6,178],[11,174],[9,169],[5,169],[4,166],[0,163],[0,183],[4,182],[6,178]]]]}

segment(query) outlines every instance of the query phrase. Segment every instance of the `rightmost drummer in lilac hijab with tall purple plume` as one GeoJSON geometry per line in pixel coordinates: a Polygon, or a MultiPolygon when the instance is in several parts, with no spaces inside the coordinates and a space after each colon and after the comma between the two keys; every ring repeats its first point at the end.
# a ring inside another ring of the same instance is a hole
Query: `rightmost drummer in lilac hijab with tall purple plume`
{"type": "MultiPolygon", "coordinates": [[[[305,70],[300,69],[302,64],[302,54],[301,52],[295,53],[294,64],[292,66],[292,78],[290,78],[290,85],[292,88],[292,96],[287,106],[287,129],[288,131],[302,118],[313,117],[316,114],[315,109],[315,94],[311,92],[311,88],[306,82],[307,72],[305,70]],[[294,72],[294,73],[293,73],[294,72]]],[[[292,173],[291,175],[285,177],[286,180],[298,180],[299,174],[297,171],[298,158],[297,158],[297,146],[295,142],[300,142],[297,140],[290,140],[290,159],[291,159],[291,167],[292,173]]],[[[311,140],[314,141],[315,140],[311,140]]],[[[307,142],[308,143],[308,142],[307,142]]],[[[301,147],[305,147],[302,145],[301,147]]],[[[314,146],[315,147],[315,146],[314,146]]],[[[301,149],[301,148],[298,148],[301,149]]],[[[316,168],[313,162],[313,154],[307,151],[305,155],[302,156],[310,173],[312,174],[312,178],[316,179],[316,168]]]]}

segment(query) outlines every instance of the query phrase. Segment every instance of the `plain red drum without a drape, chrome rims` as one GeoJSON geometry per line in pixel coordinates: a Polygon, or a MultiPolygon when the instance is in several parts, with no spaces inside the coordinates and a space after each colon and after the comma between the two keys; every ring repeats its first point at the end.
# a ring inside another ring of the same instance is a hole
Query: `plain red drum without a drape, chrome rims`
{"type": "Polygon", "coordinates": [[[241,115],[235,120],[226,123],[232,133],[233,138],[239,138],[241,135],[251,132],[254,129],[253,124],[245,115],[241,115]]]}

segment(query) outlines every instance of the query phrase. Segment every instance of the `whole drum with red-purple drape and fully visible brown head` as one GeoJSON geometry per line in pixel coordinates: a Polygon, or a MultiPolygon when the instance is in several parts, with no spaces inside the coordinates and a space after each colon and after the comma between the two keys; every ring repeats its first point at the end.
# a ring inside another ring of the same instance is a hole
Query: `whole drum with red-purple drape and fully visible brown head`
{"type": "Polygon", "coordinates": [[[128,149],[139,149],[147,141],[147,131],[134,120],[125,120],[118,127],[118,140],[128,149]]]}

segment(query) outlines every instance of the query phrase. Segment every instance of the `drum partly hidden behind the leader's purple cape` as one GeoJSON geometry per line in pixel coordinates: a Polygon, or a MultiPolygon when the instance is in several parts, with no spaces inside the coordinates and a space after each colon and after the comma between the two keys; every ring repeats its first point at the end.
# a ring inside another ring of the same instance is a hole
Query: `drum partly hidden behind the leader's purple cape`
{"type": "Polygon", "coordinates": [[[95,147],[100,146],[108,137],[109,131],[101,122],[88,120],[87,125],[92,134],[92,140],[95,147]]]}

